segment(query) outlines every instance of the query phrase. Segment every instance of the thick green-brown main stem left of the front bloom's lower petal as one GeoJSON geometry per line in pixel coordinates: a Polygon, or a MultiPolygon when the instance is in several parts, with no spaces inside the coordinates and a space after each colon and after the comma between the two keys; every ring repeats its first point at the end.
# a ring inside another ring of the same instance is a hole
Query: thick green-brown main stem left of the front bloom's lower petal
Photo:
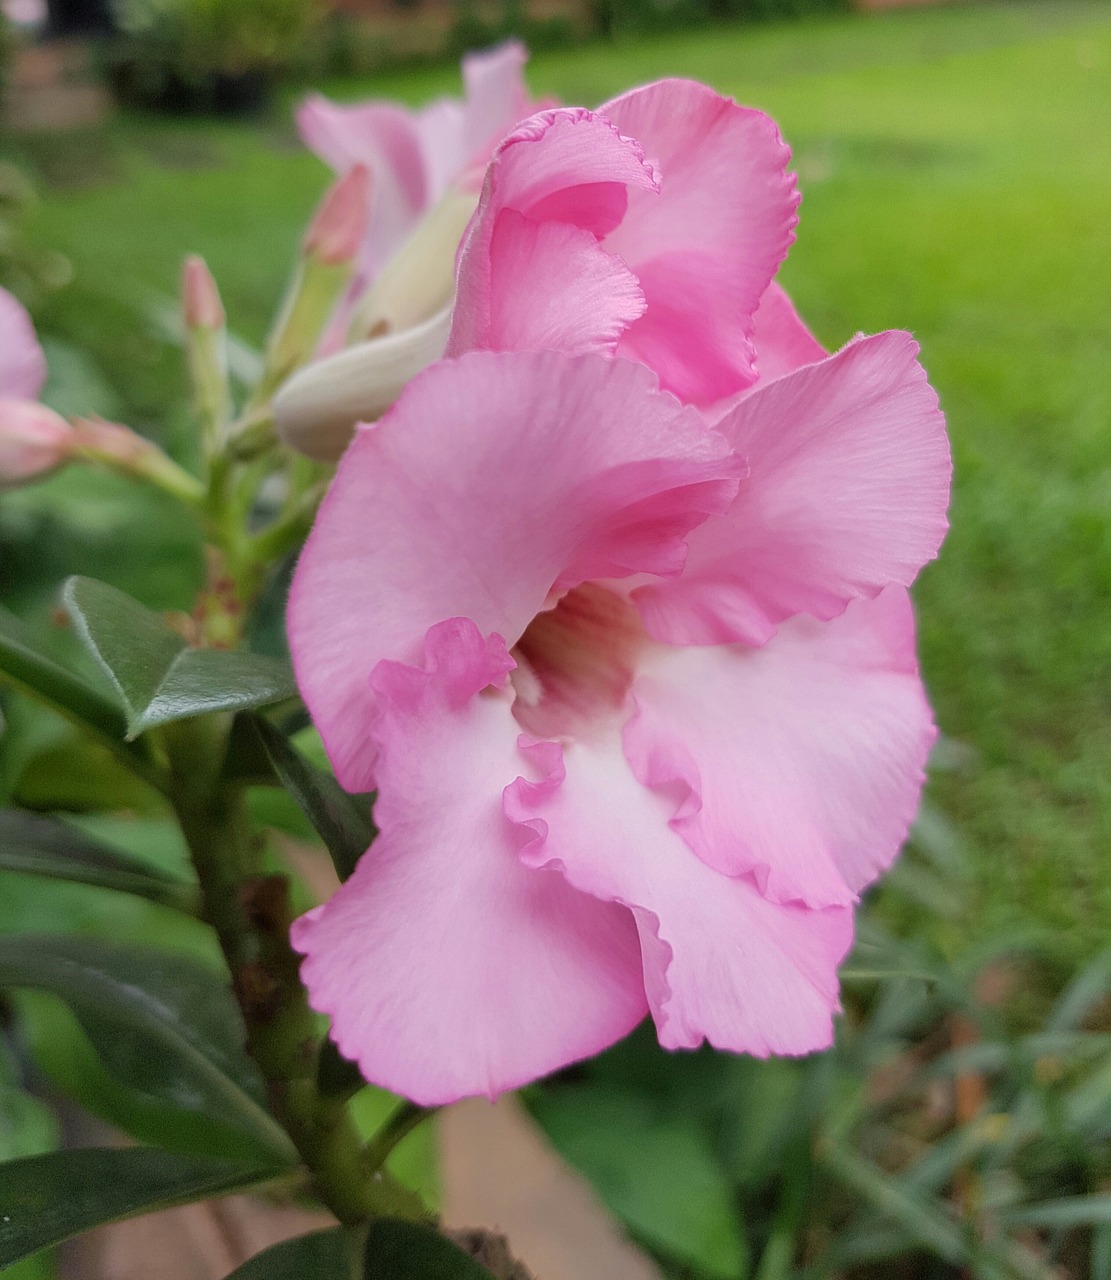
{"type": "Polygon", "coordinates": [[[288,882],[264,874],[242,790],[223,776],[229,731],[228,717],[207,716],[166,726],[165,740],[170,800],[201,882],[205,916],[232,972],[247,1050],[317,1194],[342,1222],[383,1212],[422,1216],[413,1197],[374,1176],[346,1108],[317,1091],[319,1037],[289,946],[288,882]]]}

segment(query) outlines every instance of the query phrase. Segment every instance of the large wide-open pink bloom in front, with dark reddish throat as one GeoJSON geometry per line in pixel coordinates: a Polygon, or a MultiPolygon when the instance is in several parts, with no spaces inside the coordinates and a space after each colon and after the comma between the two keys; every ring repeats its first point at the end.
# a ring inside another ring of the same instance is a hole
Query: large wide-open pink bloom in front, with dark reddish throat
{"type": "Polygon", "coordinates": [[[381,835],[293,942],[374,1083],[493,1097],[645,1012],[831,1043],[934,736],[906,586],[950,463],[907,334],[815,361],[769,307],[791,367],[713,426],[643,364],[465,352],[348,449],[289,636],[381,835]]]}

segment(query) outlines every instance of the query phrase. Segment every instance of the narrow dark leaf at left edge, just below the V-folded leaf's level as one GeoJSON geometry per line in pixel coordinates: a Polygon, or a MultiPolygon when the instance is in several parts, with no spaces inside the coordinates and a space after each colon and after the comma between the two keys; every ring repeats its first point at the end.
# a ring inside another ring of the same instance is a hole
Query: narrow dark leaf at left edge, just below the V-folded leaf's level
{"type": "Polygon", "coordinates": [[[0,810],[0,870],[97,884],[196,914],[195,886],[164,876],[51,818],[0,810]]]}

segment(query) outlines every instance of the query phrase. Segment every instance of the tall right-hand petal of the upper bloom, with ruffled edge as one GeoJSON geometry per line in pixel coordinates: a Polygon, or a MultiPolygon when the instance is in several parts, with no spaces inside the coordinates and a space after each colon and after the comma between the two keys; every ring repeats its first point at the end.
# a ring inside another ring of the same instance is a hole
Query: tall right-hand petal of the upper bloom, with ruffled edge
{"type": "Polygon", "coordinates": [[[681,399],[712,404],[755,381],[753,316],[787,256],[799,193],[767,115],[705,84],[666,79],[599,108],[659,170],[658,196],[630,191],[605,239],[648,300],[621,355],[681,399]]]}

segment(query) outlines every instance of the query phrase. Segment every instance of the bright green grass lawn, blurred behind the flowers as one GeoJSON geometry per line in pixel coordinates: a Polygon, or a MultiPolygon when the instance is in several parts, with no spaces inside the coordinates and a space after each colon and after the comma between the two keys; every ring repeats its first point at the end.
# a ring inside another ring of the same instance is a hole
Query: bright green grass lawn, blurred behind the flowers
{"type": "MultiPolygon", "coordinates": [[[[1111,910],[1111,6],[703,31],[545,55],[531,79],[596,102],[663,74],[779,120],[805,193],[785,280],[819,337],[899,326],[923,346],[956,458],[952,532],[916,591],[923,664],[942,728],[973,749],[934,796],[968,836],[986,922],[1096,946],[1111,910]]],[[[328,87],[416,101],[453,82],[328,87]]],[[[206,255],[257,340],[324,183],[288,111],[124,118],[9,150],[45,184],[35,238],[76,269],[44,333],[88,349],[96,394],[148,429],[182,381],[143,308],[182,253],[206,255]]]]}

